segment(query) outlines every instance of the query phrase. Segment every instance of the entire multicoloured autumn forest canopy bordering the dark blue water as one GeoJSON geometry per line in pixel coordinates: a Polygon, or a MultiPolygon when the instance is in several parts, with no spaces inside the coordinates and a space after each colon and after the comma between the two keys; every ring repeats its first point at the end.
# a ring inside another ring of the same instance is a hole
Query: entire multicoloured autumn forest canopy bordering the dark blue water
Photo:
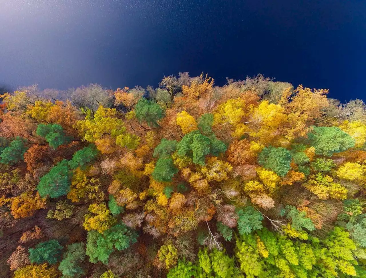
{"type": "Polygon", "coordinates": [[[366,105],[262,75],[0,96],[1,277],[366,277],[366,105]]]}

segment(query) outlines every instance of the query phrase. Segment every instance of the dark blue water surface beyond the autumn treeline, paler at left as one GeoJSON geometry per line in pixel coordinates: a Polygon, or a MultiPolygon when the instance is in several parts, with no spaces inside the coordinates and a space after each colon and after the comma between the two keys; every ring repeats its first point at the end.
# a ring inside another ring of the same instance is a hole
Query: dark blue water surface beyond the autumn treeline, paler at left
{"type": "Polygon", "coordinates": [[[0,84],[153,85],[262,73],[365,98],[366,1],[0,0],[0,84]]]}

